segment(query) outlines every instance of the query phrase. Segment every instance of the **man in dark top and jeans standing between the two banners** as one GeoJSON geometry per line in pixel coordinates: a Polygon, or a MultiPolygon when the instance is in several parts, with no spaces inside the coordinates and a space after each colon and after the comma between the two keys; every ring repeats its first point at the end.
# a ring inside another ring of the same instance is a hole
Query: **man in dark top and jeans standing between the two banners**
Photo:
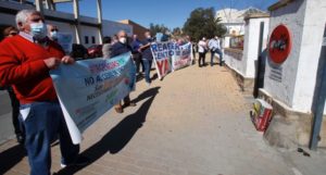
{"type": "Polygon", "coordinates": [[[152,62],[153,62],[153,54],[151,51],[151,42],[153,42],[153,38],[151,37],[150,32],[145,33],[146,39],[142,41],[142,47],[139,48],[139,51],[141,52],[142,55],[142,62],[143,62],[143,67],[145,67],[145,80],[148,86],[151,85],[151,78],[150,78],[150,71],[152,67],[152,62]]]}

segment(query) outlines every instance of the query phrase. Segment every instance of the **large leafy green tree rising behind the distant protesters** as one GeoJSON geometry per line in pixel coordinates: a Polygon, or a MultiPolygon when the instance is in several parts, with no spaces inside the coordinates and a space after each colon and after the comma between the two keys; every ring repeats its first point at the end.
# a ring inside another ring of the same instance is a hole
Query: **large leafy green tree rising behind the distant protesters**
{"type": "Polygon", "coordinates": [[[215,18],[214,15],[214,8],[195,9],[184,24],[184,33],[196,41],[202,37],[213,38],[214,36],[225,35],[225,26],[220,23],[221,18],[215,18]]]}

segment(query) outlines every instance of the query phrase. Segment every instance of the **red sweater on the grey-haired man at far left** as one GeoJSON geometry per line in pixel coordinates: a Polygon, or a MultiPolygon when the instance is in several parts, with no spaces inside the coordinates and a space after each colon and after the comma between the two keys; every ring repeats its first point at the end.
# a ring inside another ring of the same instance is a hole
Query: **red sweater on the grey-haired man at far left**
{"type": "Polygon", "coordinates": [[[17,35],[0,43],[0,86],[13,85],[22,104],[55,101],[57,93],[43,60],[63,58],[61,47],[50,41],[43,48],[17,35]]]}

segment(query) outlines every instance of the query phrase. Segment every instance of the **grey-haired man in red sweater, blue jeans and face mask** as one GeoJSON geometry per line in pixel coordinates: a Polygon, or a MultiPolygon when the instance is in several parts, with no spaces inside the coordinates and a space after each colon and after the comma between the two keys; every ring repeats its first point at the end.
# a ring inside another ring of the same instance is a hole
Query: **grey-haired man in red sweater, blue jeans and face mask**
{"type": "MultiPolygon", "coordinates": [[[[49,175],[51,142],[59,137],[61,165],[86,163],[77,159],[49,71],[74,60],[47,37],[42,15],[23,10],[16,15],[20,34],[0,43],[0,86],[13,86],[21,102],[20,120],[26,129],[25,147],[32,175],[49,175]]],[[[68,89],[67,89],[68,90],[68,89]]]]}

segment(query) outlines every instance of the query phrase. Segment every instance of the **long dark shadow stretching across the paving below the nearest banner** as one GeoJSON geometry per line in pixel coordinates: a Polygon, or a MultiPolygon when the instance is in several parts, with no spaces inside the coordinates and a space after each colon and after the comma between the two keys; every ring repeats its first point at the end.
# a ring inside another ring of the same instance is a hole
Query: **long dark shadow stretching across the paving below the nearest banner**
{"type": "Polygon", "coordinates": [[[84,166],[71,166],[63,168],[55,173],[57,175],[71,175],[87,167],[89,164],[96,162],[108,151],[112,154],[120,152],[134,137],[136,132],[146,122],[147,113],[159,92],[160,87],[151,88],[138,96],[134,101],[138,102],[149,98],[141,107],[134,113],[126,116],[114,128],[112,128],[105,136],[102,137],[97,143],[89,147],[80,155],[90,159],[89,163],[84,166]]]}

